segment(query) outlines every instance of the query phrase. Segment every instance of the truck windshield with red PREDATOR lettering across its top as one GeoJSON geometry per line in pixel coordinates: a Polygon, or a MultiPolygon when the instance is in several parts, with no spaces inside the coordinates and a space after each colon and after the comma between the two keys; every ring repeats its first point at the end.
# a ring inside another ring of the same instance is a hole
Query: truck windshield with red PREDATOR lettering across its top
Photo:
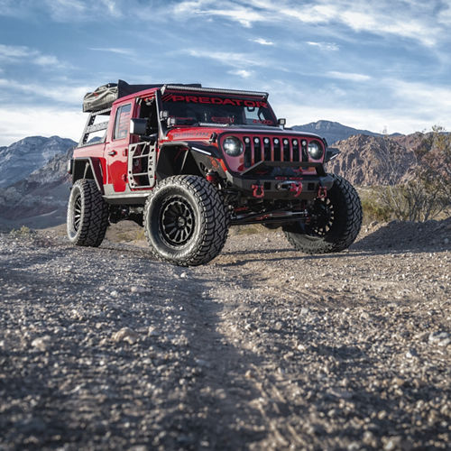
{"type": "Polygon", "coordinates": [[[269,104],[255,98],[165,94],[163,110],[176,124],[276,125],[269,104]]]}

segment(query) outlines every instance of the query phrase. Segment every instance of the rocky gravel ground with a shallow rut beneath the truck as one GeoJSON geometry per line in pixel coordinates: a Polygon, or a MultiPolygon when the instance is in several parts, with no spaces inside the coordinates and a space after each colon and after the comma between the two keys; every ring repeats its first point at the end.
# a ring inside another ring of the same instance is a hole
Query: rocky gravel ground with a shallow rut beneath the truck
{"type": "Polygon", "coordinates": [[[451,220],[345,253],[0,235],[0,450],[450,449],[451,220]]]}

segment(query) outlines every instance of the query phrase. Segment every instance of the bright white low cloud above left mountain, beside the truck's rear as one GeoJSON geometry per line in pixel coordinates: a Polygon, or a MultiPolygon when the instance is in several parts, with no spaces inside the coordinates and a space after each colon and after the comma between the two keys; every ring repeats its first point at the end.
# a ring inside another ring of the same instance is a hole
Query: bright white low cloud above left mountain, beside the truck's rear
{"type": "Polygon", "coordinates": [[[52,136],[78,141],[86,115],[79,111],[40,106],[18,109],[15,105],[0,106],[0,146],[10,145],[27,136],[52,136]]]}

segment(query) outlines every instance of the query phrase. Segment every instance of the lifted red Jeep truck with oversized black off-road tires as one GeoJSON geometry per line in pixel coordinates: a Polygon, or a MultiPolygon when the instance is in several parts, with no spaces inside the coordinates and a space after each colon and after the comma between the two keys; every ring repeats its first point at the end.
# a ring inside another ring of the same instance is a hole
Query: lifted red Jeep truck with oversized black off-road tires
{"type": "Polygon", "coordinates": [[[324,169],[336,149],[285,128],[267,93],[119,80],[83,109],[68,165],[73,244],[98,246],[110,223],[132,219],[155,257],[190,266],[220,253],[229,226],[281,226],[305,253],[342,251],[360,230],[355,189],[324,169]]]}

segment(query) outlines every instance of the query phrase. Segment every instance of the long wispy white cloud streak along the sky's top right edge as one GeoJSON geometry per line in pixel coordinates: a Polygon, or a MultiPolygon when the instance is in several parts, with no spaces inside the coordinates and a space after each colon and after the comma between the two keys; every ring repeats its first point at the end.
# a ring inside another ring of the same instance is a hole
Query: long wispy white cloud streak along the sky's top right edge
{"type": "Polygon", "coordinates": [[[173,9],[179,18],[207,15],[223,17],[245,27],[254,23],[281,23],[297,21],[311,25],[341,23],[354,32],[395,35],[419,41],[431,47],[437,43],[451,20],[449,10],[437,13],[436,2],[402,2],[391,0],[377,3],[366,0],[312,0],[299,5],[294,0],[277,3],[251,0],[245,6],[226,1],[218,4],[213,0],[182,1],[173,9]],[[436,19],[436,20],[434,20],[436,19]]]}

